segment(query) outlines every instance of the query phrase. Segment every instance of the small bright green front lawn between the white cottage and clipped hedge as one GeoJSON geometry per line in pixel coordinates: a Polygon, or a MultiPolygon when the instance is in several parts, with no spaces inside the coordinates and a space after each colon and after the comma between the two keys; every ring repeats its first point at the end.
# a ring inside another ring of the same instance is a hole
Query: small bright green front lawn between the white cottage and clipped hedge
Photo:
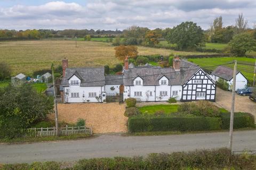
{"type": "Polygon", "coordinates": [[[152,105],[139,107],[142,114],[155,114],[157,111],[163,111],[165,114],[177,113],[179,105],[152,105]]]}

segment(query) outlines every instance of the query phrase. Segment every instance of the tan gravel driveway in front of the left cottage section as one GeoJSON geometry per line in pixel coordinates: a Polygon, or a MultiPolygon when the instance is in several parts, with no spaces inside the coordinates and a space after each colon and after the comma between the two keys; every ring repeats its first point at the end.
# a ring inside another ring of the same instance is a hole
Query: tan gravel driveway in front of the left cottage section
{"type": "MultiPolygon", "coordinates": [[[[125,105],[118,103],[81,103],[58,104],[59,121],[76,123],[84,118],[86,126],[93,133],[127,132],[127,117],[124,116],[125,105]]],[[[50,118],[54,119],[54,115],[50,118]]]]}

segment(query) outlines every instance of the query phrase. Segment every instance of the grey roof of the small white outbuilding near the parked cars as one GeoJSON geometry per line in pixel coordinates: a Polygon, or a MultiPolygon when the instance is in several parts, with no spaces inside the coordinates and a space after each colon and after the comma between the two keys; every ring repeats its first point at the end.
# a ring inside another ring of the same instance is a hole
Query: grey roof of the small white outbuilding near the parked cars
{"type": "MultiPolygon", "coordinates": [[[[238,73],[239,71],[236,71],[236,74],[238,73]]],[[[212,72],[212,74],[229,81],[233,78],[233,69],[220,65],[212,72]]]]}

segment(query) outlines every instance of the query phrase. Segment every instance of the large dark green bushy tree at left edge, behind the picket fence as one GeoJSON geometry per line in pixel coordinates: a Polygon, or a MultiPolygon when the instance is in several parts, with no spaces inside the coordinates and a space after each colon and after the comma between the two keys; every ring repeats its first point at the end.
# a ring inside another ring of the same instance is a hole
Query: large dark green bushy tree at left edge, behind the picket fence
{"type": "Polygon", "coordinates": [[[0,138],[20,137],[36,121],[53,111],[53,99],[30,84],[0,88],[0,138]]]}

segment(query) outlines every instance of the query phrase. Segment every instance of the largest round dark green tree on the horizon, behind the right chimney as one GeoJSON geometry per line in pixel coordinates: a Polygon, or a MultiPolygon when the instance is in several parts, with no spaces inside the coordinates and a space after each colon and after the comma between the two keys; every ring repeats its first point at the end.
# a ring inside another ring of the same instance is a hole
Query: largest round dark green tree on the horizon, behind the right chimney
{"type": "Polygon", "coordinates": [[[179,50],[195,49],[205,46],[204,33],[194,22],[182,22],[167,35],[167,41],[177,44],[179,50]]]}

